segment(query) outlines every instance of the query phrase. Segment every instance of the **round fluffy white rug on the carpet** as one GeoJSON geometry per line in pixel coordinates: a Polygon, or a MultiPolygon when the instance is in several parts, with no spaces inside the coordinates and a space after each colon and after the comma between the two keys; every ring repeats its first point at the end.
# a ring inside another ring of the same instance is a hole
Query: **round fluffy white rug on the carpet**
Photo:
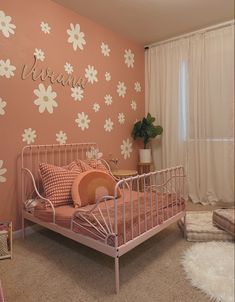
{"type": "Polygon", "coordinates": [[[234,243],[203,242],[182,260],[186,278],[213,301],[234,302],[234,243]]]}

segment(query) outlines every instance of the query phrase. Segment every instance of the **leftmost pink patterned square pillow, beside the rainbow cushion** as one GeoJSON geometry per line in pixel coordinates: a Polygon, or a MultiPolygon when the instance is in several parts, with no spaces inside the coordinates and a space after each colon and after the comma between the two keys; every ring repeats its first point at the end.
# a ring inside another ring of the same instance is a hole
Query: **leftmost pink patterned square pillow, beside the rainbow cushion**
{"type": "MultiPolygon", "coordinates": [[[[71,204],[71,188],[75,177],[79,174],[78,169],[67,170],[62,167],[46,163],[39,164],[43,189],[46,198],[50,199],[55,207],[71,204]]],[[[49,203],[46,204],[46,207],[49,203]]]]}

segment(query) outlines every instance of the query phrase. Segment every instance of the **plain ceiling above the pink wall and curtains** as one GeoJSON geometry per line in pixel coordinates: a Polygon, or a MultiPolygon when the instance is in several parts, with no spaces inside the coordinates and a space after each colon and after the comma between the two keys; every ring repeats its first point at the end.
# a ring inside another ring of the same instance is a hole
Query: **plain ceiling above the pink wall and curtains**
{"type": "Polygon", "coordinates": [[[234,19],[234,0],[53,0],[143,45],[234,19]]]}

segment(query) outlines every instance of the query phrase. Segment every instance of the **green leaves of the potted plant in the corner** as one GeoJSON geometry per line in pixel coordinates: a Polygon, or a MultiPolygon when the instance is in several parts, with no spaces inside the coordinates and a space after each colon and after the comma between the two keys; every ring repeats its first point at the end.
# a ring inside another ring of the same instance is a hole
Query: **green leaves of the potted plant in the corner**
{"type": "Polygon", "coordinates": [[[148,113],[146,117],[134,124],[131,132],[134,139],[143,139],[144,149],[146,149],[147,144],[152,138],[161,135],[163,132],[163,128],[160,125],[155,126],[154,122],[155,118],[148,113]]]}

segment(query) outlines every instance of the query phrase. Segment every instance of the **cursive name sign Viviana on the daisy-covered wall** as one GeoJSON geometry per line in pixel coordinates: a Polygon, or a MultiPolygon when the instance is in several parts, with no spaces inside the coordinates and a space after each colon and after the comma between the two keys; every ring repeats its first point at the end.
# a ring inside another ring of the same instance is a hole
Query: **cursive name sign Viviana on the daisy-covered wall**
{"type": "Polygon", "coordinates": [[[55,72],[50,68],[37,69],[37,62],[38,60],[36,56],[34,56],[34,63],[31,67],[28,67],[26,64],[23,66],[21,74],[22,80],[27,79],[31,75],[33,81],[38,79],[45,81],[46,79],[49,79],[51,84],[58,83],[63,86],[68,85],[73,88],[80,86],[82,89],[84,89],[87,84],[87,79],[84,77],[75,78],[72,75],[65,76],[62,73],[55,74],[55,72]]]}

